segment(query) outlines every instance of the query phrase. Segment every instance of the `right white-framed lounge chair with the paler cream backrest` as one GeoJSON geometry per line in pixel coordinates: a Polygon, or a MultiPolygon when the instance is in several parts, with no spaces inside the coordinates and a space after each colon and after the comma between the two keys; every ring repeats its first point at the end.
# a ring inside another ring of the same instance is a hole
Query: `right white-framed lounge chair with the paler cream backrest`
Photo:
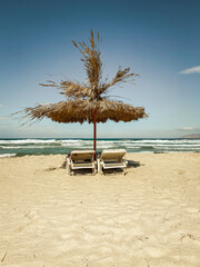
{"type": "Polygon", "coordinates": [[[128,165],[124,157],[126,154],[124,149],[102,150],[98,158],[98,172],[103,174],[102,169],[122,168],[123,175],[126,175],[128,165]]]}

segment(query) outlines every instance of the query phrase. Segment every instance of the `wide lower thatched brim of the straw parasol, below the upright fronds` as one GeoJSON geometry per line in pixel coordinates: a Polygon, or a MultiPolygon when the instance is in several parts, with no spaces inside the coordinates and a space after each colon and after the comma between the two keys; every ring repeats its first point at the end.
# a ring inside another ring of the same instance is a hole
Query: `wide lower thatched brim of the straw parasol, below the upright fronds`
{"type": "MultiPolygon", "coordinates": [[[[97,122],[106,122],[107,120],[131,121],[144,117],[143,108],[133,108],[130,105],[101,100],[96,105],[97,122]]],[[[34,108],[27,108],[26,117],[31,120],[50,118],[58,122],[93,122],[93,102],[88,100],[70,100],[50,105],[38,105],[34,108]],[[81,112],[80,112],[81,110],[81,112]]]]}

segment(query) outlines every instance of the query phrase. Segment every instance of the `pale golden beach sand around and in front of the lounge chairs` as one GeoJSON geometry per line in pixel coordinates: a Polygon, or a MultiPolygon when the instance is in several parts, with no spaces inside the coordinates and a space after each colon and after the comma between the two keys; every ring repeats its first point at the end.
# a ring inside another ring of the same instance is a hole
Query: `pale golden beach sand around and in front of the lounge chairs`
{"type": "Polygon", "coordinates": [[[0,159],[0,266],[199,267],[200,154],[129,154],[128,175],[64,156],[0,159]]]}

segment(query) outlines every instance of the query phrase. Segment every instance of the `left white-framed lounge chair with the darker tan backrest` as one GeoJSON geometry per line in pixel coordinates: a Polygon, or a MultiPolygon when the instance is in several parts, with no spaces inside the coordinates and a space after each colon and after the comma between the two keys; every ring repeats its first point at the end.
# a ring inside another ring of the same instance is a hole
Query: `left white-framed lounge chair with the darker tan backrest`
{"type": "Polygon", "coordinates": [[[67,175],[74,175],[76,169],[92,169],[96,174],[94,150],[73,150],[66,158],[67,175]]]}

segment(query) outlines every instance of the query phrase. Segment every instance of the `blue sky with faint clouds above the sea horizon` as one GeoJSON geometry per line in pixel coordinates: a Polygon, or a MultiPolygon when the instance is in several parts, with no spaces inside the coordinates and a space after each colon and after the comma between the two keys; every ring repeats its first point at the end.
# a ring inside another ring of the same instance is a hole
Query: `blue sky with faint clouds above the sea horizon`
{"type": "MultiPolygon", "coordinates": [[[[0,138],[92,137],[92,125],[32,126],[11,116],[64,100],[47,80],[84,81],[80,52],[90,29],[102,37],[104,77],[119,66],[139,73],[111,96],[144,107],[148,119],[99,123],[98,137],[176,138],[200,134],[199,0],[7,0],[0,4],[0,138]]],[[[120,100],[116,99],[114,100],[120,100]]]]}

